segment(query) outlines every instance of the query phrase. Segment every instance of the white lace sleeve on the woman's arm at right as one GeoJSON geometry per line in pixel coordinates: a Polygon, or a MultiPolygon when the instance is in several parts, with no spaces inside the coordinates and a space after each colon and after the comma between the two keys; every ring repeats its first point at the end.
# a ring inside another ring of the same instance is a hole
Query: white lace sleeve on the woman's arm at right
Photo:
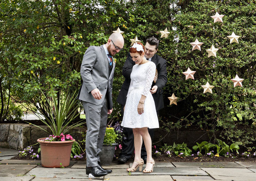
{"type": "Polygon", "coordinates": [[[143,92],[142,95],[147,97],[147,94],[150,93],[150,88],[152,85],[152,82],[154,80],[154,76],[155,76],[155,64],[153,62],[149,63],[149,66],[147,67],[147,76],[146,76],[146,84],[143,88],[143,92]]]}

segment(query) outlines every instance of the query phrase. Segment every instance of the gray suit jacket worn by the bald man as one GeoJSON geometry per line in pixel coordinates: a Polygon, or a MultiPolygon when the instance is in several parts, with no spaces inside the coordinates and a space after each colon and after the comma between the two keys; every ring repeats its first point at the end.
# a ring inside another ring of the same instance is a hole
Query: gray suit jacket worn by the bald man
{"type": "Polygon", "coordinates": [[[100,47],[90,46],[83,56],[80,69],[83,83],[77,98],[80,101],[100,105],[106,96],[108,109],[112,109],[112,85],[115,66],[116,64],[113,61],[113,68],[109,74],[109,62],[103,45],[100,47]],[[93,95],[91,95],[91,91],[95,88],[98,88],[103,95],[100,100],[94,99],[93,95]]]}

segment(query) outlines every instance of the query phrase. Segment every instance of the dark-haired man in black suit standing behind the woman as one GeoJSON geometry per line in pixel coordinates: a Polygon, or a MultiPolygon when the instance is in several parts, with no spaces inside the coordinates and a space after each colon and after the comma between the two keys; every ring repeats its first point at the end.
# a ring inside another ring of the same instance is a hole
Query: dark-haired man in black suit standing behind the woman
{"type": "MultiPolygon", "coordinates": [[[[163,87],[165,86],[167,82],[167,71],[166,71],[166,60],[163,59],[161,56],[158,56],[156,54],[158,50],[158,44],[159,40],[155,37],[150,37],[146,40],[145,44],[145,58],[149,61],[152,61],[155,63],[158,71],[158,76],[155,77],[155,82],[152,83],[151,86],[151,94],[155,101],[155,108],[157,110],[157,114],[159,114],[159,110],[163,109],[163,87]]],[[[124,106],[126,102],[126,96],[128,93],[128,89],[131,82],[131,72],[132,67],[135,63],[132,61],[132,58],[130,56],[130,53],[128,53],[127,59],[123,66],[123,76],[125,77],[124,83],[121,87],[120,93],[117,97],[117,102],[121,104],[121,114],[124,113],[124,106]]],[[[151,140],[153,141],[154,137],[154,129],[148,129],[148,132],[150,134],[151,140]]],[[[134,149],[134,142],[133,142],[133,133],[131,128],[124,127],[123,129],[124,138],[123,138],[123,149],[122,152],[118,158],[119,163],[125,163],[132,155],[132,151],[134,149]]],[[[147,161],[147,152],[144,146],[144,143],[142,145],[141,150],[141,157],[144,160],[144,163],[147,161]]]]}

